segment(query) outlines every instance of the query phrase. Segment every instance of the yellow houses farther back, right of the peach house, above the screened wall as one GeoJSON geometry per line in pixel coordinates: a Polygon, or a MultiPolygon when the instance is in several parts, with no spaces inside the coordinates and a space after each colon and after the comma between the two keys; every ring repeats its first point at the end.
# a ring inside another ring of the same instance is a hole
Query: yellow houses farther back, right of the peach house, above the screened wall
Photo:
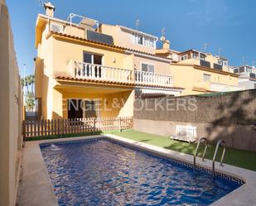
{"type": "Polygon", "coordinates": [[[174,86],[185,88],[182,95],[241,90],[239,75],[229,72],[226,58],[198,50],[168,50],[168,44],[163,39],[163,49],[157,50],[157,54],[173,59],[171,74],[174,86]]]}

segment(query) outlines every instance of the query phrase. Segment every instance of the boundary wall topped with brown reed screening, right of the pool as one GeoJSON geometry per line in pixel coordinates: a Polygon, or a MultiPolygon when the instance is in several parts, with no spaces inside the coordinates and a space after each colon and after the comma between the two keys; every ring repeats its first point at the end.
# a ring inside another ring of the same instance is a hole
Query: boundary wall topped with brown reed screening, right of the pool
{"type": "Polygon", "coordinates": [[[175,134],[176,125],[192,125],[197,127],[198,138],[206,137],[212,143],[223,139],[230,147],[256,151],[256,90],[137,99],[133,125],[137,131],[163,136],[175,134]]]}

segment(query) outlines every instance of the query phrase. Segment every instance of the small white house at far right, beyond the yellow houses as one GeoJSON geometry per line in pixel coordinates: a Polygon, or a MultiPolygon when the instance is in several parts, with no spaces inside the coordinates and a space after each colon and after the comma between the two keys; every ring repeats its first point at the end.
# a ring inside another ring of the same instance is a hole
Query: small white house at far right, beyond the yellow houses
{"type": "Polygon", "coordinates": [[[239,74],[239,87],[243,89],[256,89],[256,68],[254,66],[231,67],[230,70],[234,74],[239,74]]]}

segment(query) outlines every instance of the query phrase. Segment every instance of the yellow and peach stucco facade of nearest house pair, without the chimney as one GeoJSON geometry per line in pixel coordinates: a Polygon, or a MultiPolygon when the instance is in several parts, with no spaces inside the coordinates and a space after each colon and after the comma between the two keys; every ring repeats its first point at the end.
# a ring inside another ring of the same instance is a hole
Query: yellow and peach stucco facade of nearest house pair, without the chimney
{"type": "MultiPolygon", "coordinates": [[[[99,31],[94,32],[104,34],[99,31]]],[[[80,26],[38,16],[35,91],[39,118],[70,118],[70,99],[97,103],[96,117],[131,117],[136,89],[181,93],[171,83],[170,59],[148,47],[134,50],[136,46],[128,49],[117,42],[91,41],[85,33],[80,26]],[[52,24],[61,26],[61,31],[52,31],[52,24]],[[97,63],[86,63],[85,53],[97,63]],[[142,66],[152,67],[154,74],[142,71],[142,66]]],[[[88,117],[86,111],[80,117],[88,117]]]]}

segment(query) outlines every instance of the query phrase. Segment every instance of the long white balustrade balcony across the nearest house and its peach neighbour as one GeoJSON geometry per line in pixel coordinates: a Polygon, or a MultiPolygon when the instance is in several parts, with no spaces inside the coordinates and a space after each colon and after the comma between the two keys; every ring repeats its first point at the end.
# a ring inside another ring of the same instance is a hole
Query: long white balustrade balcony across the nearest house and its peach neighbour
{"type": "Polygon", "coordinates": [[[137,85],[172,86],[172,76],[131,69],[120,69],[105,65],[92,65],[75,61],[75,78],[133,83],[137,85]]]}

